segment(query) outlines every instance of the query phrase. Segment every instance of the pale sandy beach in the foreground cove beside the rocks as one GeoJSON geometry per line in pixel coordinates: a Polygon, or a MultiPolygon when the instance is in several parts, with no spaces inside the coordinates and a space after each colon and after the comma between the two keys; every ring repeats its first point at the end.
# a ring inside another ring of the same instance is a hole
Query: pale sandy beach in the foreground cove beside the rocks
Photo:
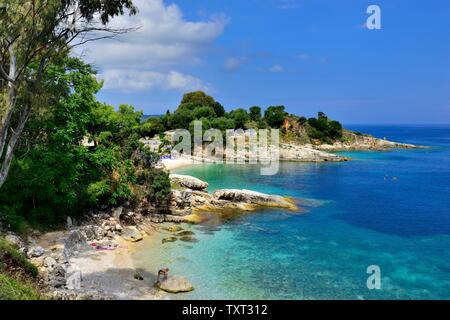
{"type": "MultiPolygon", "coordinates": [[[[35,240],[35,244],[42,246],[51,252],[50,256],[59,256],[64,248],[64,238],[69,231],[51,232],[42,235],[35,240]]],[[[160,232],[155,231],[145,234],[146,243],[160,242],[160,232]]],[[[70,258],[70,264],[79,267],[82,274],[82,292],[89,296],[101,297],[102,299],[114,300],[155,300],[168,299],[169,295],[154,288],[156,272],[149,272],[136,268],[132,259],[137,243],[127,242],[120,237],[115,239],[118,246],[115,250],[96,250],[88,245],[80,248],[78,254],[70,258]],[[143,280],[135,279],[138,273],[143,280]]],[[[32,260],[34,264],[41,265],[42,258],[32,260]]]]}

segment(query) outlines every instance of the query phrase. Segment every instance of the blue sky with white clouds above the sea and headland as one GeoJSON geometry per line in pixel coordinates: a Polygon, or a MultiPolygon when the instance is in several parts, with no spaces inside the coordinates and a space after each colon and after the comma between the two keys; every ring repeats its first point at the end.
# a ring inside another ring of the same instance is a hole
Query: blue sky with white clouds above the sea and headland
{"type": "Polygon", "coordinates": [[[135,0],[138,27],[77,54],[98,94],[145,114],[203,90],[227,110],[285,105],[344,124],[450,123],[450,1],[135,0]],[[381,29],[369,30],[369,5],[381,29]]]}

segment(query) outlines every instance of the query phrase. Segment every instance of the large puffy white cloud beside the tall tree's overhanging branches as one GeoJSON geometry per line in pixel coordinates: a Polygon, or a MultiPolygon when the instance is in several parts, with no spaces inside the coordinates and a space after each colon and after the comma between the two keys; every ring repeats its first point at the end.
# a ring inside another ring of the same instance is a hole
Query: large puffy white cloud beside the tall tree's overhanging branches
{"type": "Polygon", "coordinates": [[[202,54],[223,33],[228,19],[214,15],[204,21],[189,21],[176,4],[163,0],[134,3],[139,13],[116,17],[110,27],[138,27],[137,31],[89,43],[82,52],[78,51],[101,70],[105,89],[121,89],[119,83],[123,90],[205,87],[200,79],[176,69],[198,64],[202,54]],[[123,78],[119,79],[119,75],[123,78]]]}

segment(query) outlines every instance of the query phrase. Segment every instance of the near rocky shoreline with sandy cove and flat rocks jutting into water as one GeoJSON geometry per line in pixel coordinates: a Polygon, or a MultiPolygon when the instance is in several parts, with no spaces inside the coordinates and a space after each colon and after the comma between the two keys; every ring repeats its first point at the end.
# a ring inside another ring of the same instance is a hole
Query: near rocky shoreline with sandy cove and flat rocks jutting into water
{"type": "Polygon", "coordinates": [[[217,217],[264,208],[297,211],[293,199],[251,190],[206,191],[208,183],[190,176],[171,175],[174,189],[169,213],[144,214],[129,206],[90,212],[84,221],[67,219],[66,230],[22,239],[14,234],[6,240],[27,255],[39,269],[40,283],[50,299],[163,299],[167,292],[186,292],[193,285],[182,276],[171,275],[155,286],[155,273],[137,270],[131,259],[133,243],[161,232],[164,242],[195,242],[180,222],[198,223],[208,212],[217,217]],[[161,222],[176,222],[167,228],[161,222]]]}

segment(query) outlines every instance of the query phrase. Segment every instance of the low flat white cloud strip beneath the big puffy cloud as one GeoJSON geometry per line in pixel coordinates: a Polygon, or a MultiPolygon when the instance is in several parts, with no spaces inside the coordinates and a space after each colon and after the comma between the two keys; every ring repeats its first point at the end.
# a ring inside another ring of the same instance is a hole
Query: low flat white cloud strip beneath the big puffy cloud
{"type": "Polygon", "coordinates": [[[105,89],[125,92],[152,89],[208,91],[209,86],[193,76],[171,70],[169,72],[108,69],[99,76],[105,81],[105,89]]]}

